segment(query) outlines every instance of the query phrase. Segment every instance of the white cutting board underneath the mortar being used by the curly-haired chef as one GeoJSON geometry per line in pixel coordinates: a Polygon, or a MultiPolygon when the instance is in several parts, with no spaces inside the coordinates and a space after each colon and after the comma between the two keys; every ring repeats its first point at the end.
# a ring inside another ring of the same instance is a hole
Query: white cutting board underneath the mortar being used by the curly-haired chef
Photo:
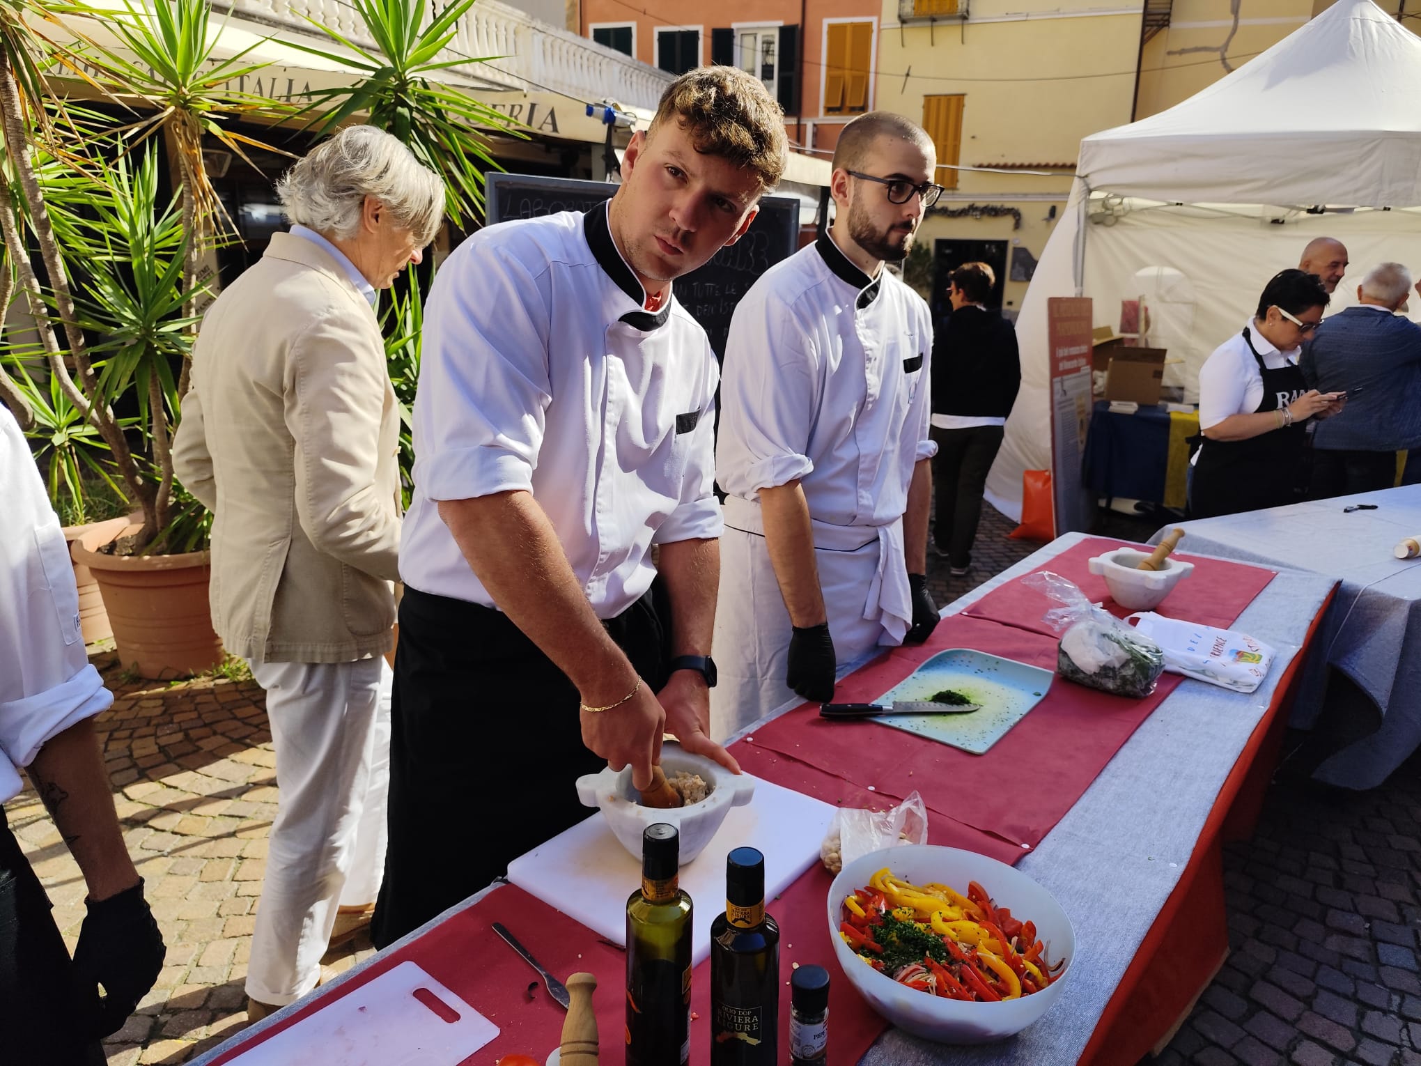
{"type": "MultiPolygon", "coordinates": [[[[725,910],[725,857],[736,847],[764,856],[766,910],[774,897],[818,861],[818,844],[837,807],[756,779],[755,797],[732,807],[693,863],[681,867],[681,887],[695,904],[691,964],[710,954],[710,922],[725,910]]],[[[627,897],[641,884],[632,858],[600,810],[509,863],[509,880],[618,947],[627,947],[627,897]]]]}

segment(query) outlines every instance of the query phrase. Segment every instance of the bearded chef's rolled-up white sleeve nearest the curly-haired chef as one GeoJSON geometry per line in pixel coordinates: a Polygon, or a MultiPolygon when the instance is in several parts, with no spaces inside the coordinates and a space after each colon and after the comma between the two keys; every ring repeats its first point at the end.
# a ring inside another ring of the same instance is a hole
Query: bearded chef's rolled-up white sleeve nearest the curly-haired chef
{"type": "Polygon", "coordinates": [[[730,320],[716,476],[733,496],[756,499],[804,478],[813,411],[818,409],[818,354],[793,308],[773,293],[740,301],[730,320]]]}

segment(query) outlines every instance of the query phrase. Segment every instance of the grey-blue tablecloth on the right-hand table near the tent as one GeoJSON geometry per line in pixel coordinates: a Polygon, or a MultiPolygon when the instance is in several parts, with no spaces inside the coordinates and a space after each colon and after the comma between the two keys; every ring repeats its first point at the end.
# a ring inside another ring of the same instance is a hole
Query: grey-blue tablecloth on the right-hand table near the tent
{"type": "Polygon", "coordinates": [[[1421,560],[1391,554],[1403,537],[1421,536],[1421,485],[1185,522],[1181,550],[1341,581],[1292,722],[1304,729],[1316,722],[1327,669],[1340,669],[1377,705],[1381,728],[1331,755],[1314,777],[1349,789],[1381,785],[1421,745],[1421,560]],[[1377,509],[1343,510],[1354,503],[1377,509]]]}

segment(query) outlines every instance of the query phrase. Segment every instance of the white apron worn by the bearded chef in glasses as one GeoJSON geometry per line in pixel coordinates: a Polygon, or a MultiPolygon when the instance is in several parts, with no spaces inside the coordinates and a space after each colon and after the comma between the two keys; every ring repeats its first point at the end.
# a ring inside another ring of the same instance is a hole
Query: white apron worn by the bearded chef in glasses
{"type": "MultiPolygon", "coordinates": [[[[877,618],[864,618],[864,603],[878,573],[878,540],[857,551],[814,549],[818,584],[828,610],[828,634],[840,667],[880,644],[897,644],[877,618]]],[[[720,591],[716,597],[710,655],[710,736],[720,742],[784,704],[801,702],[784,682],[790,623],[764,537],[726,526],[720,534],[720,591]]]]}

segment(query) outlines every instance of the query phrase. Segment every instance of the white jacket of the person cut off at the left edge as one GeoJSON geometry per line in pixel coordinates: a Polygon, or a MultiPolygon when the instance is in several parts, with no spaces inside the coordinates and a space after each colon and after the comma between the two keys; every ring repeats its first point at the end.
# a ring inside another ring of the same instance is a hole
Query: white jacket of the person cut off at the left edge
{"type": "Polygon", "coordinates": [[[30,448],[0,405],[0,802],[17,768],[114,696],[84,652],[80,594],[30,448]]]}

